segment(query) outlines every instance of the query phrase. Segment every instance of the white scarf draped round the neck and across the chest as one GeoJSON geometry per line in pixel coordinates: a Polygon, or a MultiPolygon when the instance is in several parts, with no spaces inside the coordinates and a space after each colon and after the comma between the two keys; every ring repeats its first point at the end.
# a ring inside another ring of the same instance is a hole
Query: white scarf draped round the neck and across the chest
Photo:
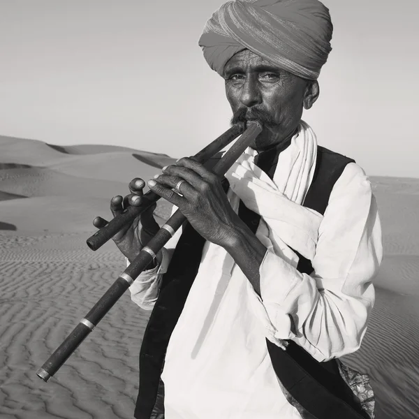
{"type": "Polygon", "coordinates": [[[279,154],[273,181],[253,163],[255,155],[248,148],[226,174],[234,192],[230,194],[230,204],[237,210],[241,199],[262,216],[267,225],[266,238],[274,252],[288,263],[295,266],[298,261],[290,247],[312,259],[323,217],[302,207],[302,203],[316,169],[316,134],[307,123],[300,122],[291,145],[279,154]]]}

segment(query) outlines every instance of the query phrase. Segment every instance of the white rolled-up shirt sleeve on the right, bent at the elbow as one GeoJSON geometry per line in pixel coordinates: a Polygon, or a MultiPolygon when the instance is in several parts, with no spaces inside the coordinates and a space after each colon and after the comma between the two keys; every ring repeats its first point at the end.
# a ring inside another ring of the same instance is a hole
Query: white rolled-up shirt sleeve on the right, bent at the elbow
{"type": "Polygon", "coordinates": [[[267,338],[278,345],[291,339],[318,361],[356,351],[374,305],[372,279],[382,256],[371,184],[360,166],[349,163],[319,227],[314,272],[301,274],[272,247],[265,253],[258,298],[267,338]]]}

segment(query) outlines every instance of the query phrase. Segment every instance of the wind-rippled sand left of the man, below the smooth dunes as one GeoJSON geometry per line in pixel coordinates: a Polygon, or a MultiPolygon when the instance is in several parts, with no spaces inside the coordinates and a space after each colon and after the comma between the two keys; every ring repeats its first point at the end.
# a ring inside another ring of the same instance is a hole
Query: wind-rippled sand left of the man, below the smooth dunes
{"type": "Polygon", "coordinates": [[[124,270],[86,235],[2,235],[0,418],[132,418],[147,312],[126,293],[44,383],[36,370],[124,270]],[[26,240],[25,240],[26,239],[26,240]]]}

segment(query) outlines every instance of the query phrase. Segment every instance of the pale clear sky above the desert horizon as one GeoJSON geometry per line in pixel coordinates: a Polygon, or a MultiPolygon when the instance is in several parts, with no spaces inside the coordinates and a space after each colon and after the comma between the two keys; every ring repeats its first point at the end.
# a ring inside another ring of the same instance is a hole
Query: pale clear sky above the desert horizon
{"type": "MultiPolygon", "coordinates": [[[[220,0],[0,0],[0,135],[189,156],[225,131],[198,39],[220,0]]],[[[324,0],[335,30],[303,119],[368,175],[419,177],[419,3],[324,0]]]]}

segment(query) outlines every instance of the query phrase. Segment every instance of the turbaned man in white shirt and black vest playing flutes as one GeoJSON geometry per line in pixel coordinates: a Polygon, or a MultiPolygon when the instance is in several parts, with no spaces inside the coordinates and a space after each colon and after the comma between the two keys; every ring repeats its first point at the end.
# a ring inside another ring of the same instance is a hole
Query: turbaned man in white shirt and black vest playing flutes
{"type": "MultiPolygon", "coordinates": [[[[335,358],[359,348],[374,304],[376,202],[363,170],[301,120],[331,38],[317,0],[228,1],[207,22],[200,46],[233,122],[263,132],[226,174],[227,193],[192,159],[148,183],[189,226],[130,288],[153,309],[135,418],[369,417],[335,358]]],[[[113,214],[140,205],[143,186],[113,198],[113,214]]],[[[148,212],[114,240],[133,260],[156,228],[148,212]]]]}

